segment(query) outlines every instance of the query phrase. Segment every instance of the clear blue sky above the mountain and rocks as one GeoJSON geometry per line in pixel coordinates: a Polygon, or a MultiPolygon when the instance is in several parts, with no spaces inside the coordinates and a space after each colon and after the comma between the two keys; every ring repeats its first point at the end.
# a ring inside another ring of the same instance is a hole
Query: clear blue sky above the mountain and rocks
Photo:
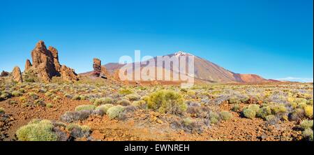
{"type": "Polygon", "coordinates": [[[183,50],[235,73],[313,79],[313,0],[1,1],[0,70],[24,70],[38,40],[77,73],[93,57],[183,50]]]}

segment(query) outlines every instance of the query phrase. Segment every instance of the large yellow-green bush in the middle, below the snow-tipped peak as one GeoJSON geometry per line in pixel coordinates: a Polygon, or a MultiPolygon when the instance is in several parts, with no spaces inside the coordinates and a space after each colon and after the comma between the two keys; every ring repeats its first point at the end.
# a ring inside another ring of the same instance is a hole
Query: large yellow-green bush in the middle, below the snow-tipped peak
{"type": "Polygon", "coordinates": [[[160,90],[149,95],[147,106],[162,113],[181,114],[188,108],[184,98],[171,90],[160,90]]]}

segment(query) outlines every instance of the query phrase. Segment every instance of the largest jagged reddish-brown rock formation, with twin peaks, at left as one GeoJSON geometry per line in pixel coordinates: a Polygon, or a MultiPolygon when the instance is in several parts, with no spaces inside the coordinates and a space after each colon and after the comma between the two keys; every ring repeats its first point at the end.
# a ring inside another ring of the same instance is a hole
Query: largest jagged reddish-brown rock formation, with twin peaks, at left
{"type": "Polygon", "coordinates": [[[60,65],[58,50],[51,46],[47,49],[42,40],[31,52],[31,58],[33,65],[27,61],[25,71],[32,70],[43,82],[50,82],[54,76],[61,76],[63,80],[71,82],[78,80],[77,74],[72,68],[60,65]]]}

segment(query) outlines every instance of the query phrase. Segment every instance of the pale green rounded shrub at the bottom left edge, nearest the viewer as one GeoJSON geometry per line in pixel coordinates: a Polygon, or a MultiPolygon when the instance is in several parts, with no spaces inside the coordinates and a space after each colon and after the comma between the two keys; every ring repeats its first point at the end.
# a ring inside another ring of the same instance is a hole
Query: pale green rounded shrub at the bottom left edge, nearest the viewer
{"type": "Polygon", "coordinates": [[[31,121],[19,128],[16,135],[20,141],[57,141],[58,137],[53,128],[49,120],[31,121]]]}

